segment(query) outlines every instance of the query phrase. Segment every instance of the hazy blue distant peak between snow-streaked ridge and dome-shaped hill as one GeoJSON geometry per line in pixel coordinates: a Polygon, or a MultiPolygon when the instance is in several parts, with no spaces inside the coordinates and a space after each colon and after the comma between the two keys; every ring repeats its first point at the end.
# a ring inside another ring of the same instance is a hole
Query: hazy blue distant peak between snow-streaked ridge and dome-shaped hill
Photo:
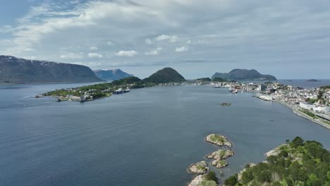
{"type": "Polygon", "coordinates": [[[114,81],[120,80],[125,77],[132,77],[133,75],[123,72],[121,69],[115,70],[94,70],[95,75],[101,80],[114,81]]]}

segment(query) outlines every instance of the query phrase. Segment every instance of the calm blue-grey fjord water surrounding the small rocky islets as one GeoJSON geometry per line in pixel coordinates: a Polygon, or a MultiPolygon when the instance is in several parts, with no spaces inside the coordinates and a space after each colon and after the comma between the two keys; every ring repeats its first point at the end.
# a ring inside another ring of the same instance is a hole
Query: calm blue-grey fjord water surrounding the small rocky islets
{"type": "Polygon", "coordinates": [[[295,136],[330,149],[330,130],[228,89],[150,87],[85,103],[33,99],[76,86],[0,87],[1,185],[185,185],[193,178],[186,168],[219,149],[204,142],[210,133],[233,142],[224,178],[295,136]]]}

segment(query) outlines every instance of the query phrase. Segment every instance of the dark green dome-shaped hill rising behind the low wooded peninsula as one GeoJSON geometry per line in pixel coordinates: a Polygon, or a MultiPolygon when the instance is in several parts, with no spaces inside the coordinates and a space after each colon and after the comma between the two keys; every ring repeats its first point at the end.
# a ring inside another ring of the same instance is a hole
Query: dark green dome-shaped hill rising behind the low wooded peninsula
{"type": "Polygon", "coordinates": [[[185,81],[185,77],[183,77],[173,68],[163,68],[143,80],[143,82],[152,82],[152,83],[183,82],[183,81],[185,81]]]}

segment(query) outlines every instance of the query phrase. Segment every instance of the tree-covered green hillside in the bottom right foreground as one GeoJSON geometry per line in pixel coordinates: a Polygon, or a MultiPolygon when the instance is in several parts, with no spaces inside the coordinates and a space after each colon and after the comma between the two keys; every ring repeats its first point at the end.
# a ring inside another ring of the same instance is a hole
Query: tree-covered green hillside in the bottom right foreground
{"type": "Polygon", "coordinates": [[[319,142],[304,142],[295,137],[269,155],[265,162],[245,166],[243,171],[228,178],[224,185],[330,185],[330,152],[319,142]]]}

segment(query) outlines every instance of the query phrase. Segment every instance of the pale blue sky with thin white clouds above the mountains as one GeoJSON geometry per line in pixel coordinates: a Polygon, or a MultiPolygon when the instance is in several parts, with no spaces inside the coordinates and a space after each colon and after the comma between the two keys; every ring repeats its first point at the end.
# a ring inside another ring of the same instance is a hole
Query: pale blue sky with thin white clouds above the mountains
{"type": "Polygon", "coordinates": [[[0,54],[186,78],[330,78],[330,1],[0,0],[0,54]]]}

